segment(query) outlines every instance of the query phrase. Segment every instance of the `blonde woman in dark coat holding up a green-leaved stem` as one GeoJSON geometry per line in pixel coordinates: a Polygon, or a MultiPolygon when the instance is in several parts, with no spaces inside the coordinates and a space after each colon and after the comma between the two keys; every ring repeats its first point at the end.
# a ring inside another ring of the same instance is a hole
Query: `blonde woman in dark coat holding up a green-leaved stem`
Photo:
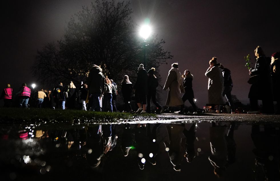
{"type": "Polygon", "coordinates": [[[249,70],[251,76],[258,75],[258,81],[250,87],[249,99],[252,111],[249,113],[259,112],[258,100],[262,100],[263,113],[274,113],[271,85],[271,74],[269,62],[267,61],[263,49],[258,46],[255,49],[256,64],[255,68],[249,70]]]}

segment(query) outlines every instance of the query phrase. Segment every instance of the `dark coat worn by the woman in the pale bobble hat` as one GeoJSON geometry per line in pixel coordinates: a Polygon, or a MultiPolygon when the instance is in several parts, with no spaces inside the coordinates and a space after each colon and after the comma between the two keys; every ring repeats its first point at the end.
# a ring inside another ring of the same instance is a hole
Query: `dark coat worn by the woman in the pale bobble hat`
{"type": "Polygon", "coordinates": [[[137,80],[133,89],[135,89],[136,92],[147,95],[147,91],[148,91],[147,79],[148,79],[147,71],[145,69],[139,70],[137,73],[137,80]]]}

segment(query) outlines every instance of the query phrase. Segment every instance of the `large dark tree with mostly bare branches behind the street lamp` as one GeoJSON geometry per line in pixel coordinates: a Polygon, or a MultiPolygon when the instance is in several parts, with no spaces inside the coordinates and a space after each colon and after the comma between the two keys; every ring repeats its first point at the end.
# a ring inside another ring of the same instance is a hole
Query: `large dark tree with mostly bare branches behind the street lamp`
{"type": "MultiPolygon", "coordinates": [[[[37,52],[33,74],[48,84],[70,79],[80,82],[86,81],[95,64],[116,82],[124,75],[133,80],[144,55],[143,39],[137,35],[129,6],[129,2],[97,0],[91,7],[83,7],[72,16],[57,45],[48,43],[37,52]]],[[[158,68],[166,59],[172,59],[170,52],[163,49],[164,43],[155,34],[149,37],[146,69],[158,68]]]]}

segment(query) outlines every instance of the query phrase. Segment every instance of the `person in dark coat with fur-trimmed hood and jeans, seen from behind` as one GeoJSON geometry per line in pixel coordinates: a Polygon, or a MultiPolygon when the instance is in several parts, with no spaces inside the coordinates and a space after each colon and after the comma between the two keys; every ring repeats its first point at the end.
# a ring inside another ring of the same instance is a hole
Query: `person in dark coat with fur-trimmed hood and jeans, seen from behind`
{"type": "Polygon", "coordinates": [[[102,69],[93,65],[91,70],[89,71],[89,76],[87,77],[87,86],[89,89],[89,94],[91,94],[92,98],[92,111],[101,111],[100,108],[100,100],[99,97],[104,92],[105,89],[105,77],[102,73],[102,69]]]}

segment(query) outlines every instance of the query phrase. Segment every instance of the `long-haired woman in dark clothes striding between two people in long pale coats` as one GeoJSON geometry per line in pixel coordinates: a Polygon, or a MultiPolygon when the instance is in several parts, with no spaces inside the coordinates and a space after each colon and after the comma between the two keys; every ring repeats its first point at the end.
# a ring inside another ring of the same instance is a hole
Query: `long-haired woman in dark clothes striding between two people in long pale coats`
{"type": "Polygon", "coordinates": [[[184,78],[183,84],[184,84],[184,90],[185,93],[182,96],[182,100],[184,102],[183,105],[181,105],[181,110],[177,111],[175,113],[181,113],[184,111],[185,109],[185,101],[188,100],[189,103],[191,104],[191,106],[193,107],[193,114],[197,114],[196,111],[196,106],[195,103],[193,102],[193,98],[194,98],[194,94],[193,94],[193,75],[191,74],[191,72],[189,70],[185,70],[182,77],[184,78]]]}

